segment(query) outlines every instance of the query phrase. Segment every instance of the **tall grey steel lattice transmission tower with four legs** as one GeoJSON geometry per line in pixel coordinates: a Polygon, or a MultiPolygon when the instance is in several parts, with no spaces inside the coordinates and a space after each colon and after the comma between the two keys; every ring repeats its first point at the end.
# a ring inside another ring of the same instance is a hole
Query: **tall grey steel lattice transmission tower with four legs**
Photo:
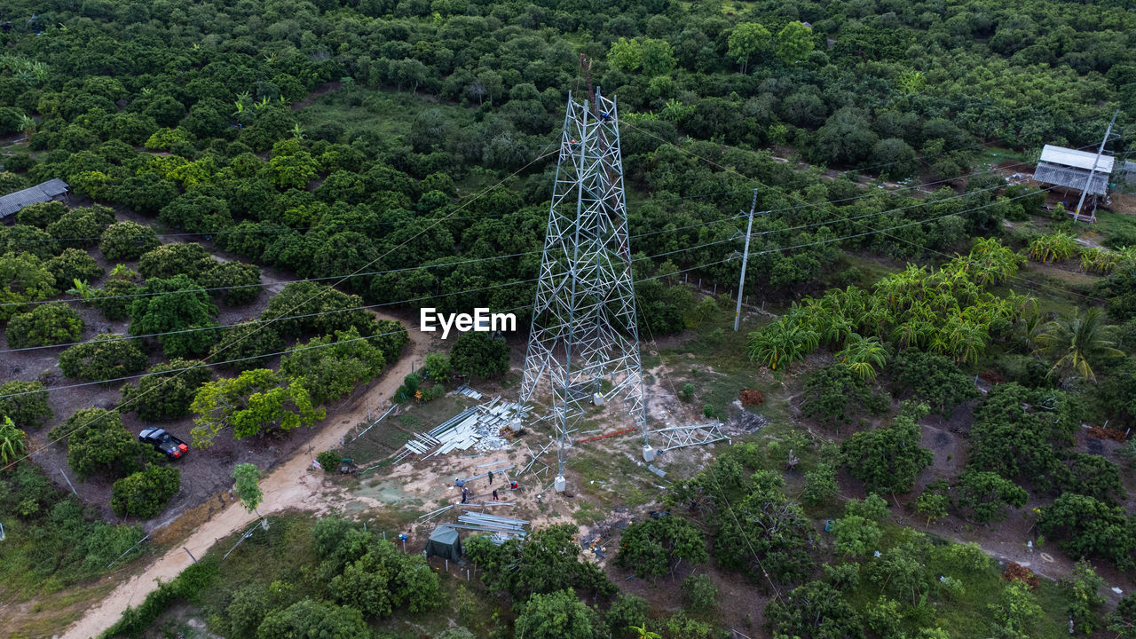
{"type": "Polygon", "coordinates": [[[577,418],[600,391],[619,399],[648,442],[632,251],[627,236],[619,117],[615,100],[568,97],[548,234],[525,354],[520,401],[546,381],[558,450],[557,490],[563,490],[565,447],[577,418]]]}

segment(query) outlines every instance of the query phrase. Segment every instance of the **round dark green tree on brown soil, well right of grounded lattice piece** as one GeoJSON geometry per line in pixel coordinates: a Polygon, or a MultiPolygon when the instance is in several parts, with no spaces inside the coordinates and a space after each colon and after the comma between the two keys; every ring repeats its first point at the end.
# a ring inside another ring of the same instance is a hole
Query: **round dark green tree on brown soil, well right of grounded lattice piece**
{"type": "Polygon", "coordinates": [[[853,434],[841,446],[844,463],[852,476],[862,480],[868,490],[907,492],[934,456],[921,448],[922,431],[918,418],[927,405],[907,405],[888,426],[853,434]]]}

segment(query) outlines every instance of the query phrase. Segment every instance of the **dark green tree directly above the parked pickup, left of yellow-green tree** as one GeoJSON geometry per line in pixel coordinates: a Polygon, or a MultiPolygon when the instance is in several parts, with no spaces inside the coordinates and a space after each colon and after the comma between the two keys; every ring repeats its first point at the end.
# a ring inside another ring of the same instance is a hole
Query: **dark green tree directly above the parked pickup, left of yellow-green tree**
{"type": "Polygon", "coordinates": [[[201,362],[174,358],[154,364],[137,384],[123,387],[122,410],[147,422],[166,422],[190,414],[190,404],[212,373],[201,362]]]}

